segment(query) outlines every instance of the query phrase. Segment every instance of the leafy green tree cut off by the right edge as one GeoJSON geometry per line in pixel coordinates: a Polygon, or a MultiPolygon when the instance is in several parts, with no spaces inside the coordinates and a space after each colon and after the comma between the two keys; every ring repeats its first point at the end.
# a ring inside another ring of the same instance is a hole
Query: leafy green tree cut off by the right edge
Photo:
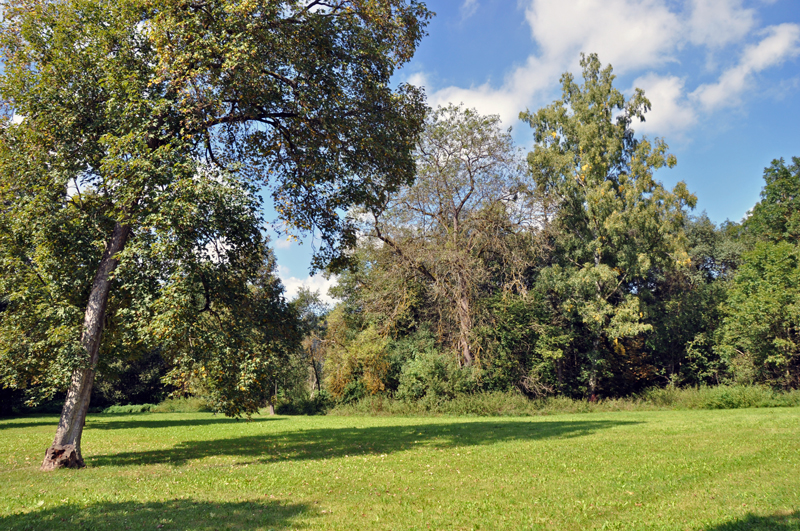
{"type": "Polygon", "coordinates": [[[764,169],[761,201],[744,221],[718,351],[741,382],[800,386],[800,158],[764,169]]]}

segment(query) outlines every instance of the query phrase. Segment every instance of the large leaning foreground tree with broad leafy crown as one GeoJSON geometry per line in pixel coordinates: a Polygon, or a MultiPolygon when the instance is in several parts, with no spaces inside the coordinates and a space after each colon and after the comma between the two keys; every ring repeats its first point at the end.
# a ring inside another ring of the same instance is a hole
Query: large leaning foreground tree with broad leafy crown
{"type": "Polygon", "coordinates": [[[0,355],[6,385],[69,382],[44,468],[83,464],[98,361],[142,343],[211,348],[221,407],[257,407],[240,377],[261,358],[239,349],[281,319],[222,325],[269,263],[257,192],[319,234],[316,266],[346,262],[340,212],[413,178],[422,94],[389,83],[429,16],[415,0],[4,6],[0,355]]]}

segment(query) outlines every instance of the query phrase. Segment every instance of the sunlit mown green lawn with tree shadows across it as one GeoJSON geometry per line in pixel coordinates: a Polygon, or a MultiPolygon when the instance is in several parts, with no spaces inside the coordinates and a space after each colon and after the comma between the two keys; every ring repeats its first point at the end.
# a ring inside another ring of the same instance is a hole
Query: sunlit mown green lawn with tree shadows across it
{"type": "Polygon", "coordinates": [[[0,529],[800,530],[800,409],[0,421],[0,529]]]}

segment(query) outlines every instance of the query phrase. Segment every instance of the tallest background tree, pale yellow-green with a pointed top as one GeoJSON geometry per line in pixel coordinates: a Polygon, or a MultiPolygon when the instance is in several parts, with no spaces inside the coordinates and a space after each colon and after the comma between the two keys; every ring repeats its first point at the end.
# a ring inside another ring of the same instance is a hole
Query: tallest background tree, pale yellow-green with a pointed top
{"type": "Polygon", "coordinates": [[[641,90],[626,101],[613,87],[610,66],[581,57],[583,84],[561,78],[563,96],[520,118],[533,128],[528,164],[545,204],[556,214],[552,265],[539,288],[548,294],[554,319],[564,323],[545,342],[551,356],[586,352],[579,379],[594,396],[611,352],[621,340],[650,330],[639,300],[654,269],[685,263],[682,226],[696,199],[683,183],[672,192],[653,172],[673,166],[660,139],[637,139],[633,121],[644,120],[650,102],[641,90]],[[560,317],[559,317],[560,316],[560,317]]]}

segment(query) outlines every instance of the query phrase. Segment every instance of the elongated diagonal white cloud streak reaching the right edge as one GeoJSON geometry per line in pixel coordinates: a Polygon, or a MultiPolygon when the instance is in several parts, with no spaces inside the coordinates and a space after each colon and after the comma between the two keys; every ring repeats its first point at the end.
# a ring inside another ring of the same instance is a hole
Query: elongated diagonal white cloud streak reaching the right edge
{"type": "Polygon", "coordinates": [[[761,42],[745,49],[739,64],[724,72],[717,83],[699,86],[692,92],[692,99],[706,110],[736,105],[753,74],[800,54],[797,24],[770,26],[764,33],[767,36],[761,42]]]}

